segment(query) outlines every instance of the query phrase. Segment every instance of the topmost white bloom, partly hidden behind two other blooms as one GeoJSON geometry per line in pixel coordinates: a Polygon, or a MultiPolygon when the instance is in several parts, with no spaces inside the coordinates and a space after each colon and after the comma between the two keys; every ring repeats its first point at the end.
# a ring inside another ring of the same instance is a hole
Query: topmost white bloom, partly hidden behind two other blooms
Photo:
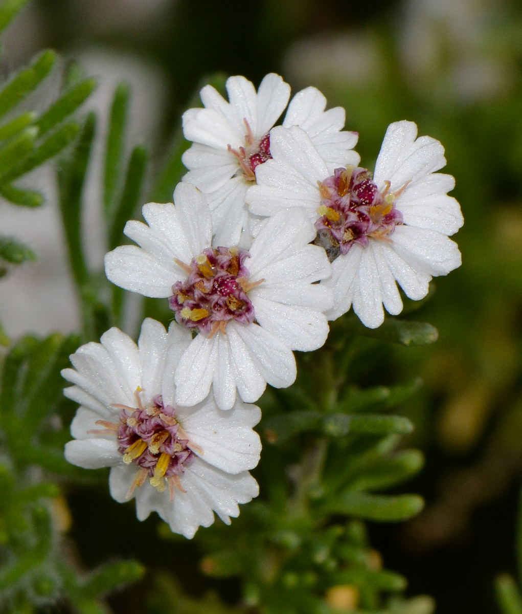
{"type": "MultiPolygon", "coordinates": [[[[226,81],[227,102],[211,85],[201,90],[204,109],[183,114],[183,133],[194,144],[183,153],[189,169],[183,177],[205,195],[219,245],[250,247],[251,228],[245,193],[256,181],[259,166],[271,158],[270,131],[285,110],[290,85],[274,73],[259,89],[245,77],[226,81]]],[[[315,87],[299,91],[288,106],[283,126],[300,126],[325,160],[334,165],[358,164],[351,151],[358,139],[343,131],[342,107],[326,109],[326,98],[315,87]]]]}

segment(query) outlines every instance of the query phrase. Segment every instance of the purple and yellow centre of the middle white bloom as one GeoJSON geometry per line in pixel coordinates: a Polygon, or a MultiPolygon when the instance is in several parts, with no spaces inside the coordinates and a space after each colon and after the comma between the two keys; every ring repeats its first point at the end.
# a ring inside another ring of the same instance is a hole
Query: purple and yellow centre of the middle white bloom
{"type": "Polygon", "coordinates": [[[225,332],[231,320],[241,324],[255,321],[247,293],[260,282],[248,282],[250,273],[243,262],[249,256],[244,249],[209,247],[190,265],[176,261],[188,274],[186,281],[172,286],[169,298],[178,324],[212,336],[218,330],[225,332]]]}

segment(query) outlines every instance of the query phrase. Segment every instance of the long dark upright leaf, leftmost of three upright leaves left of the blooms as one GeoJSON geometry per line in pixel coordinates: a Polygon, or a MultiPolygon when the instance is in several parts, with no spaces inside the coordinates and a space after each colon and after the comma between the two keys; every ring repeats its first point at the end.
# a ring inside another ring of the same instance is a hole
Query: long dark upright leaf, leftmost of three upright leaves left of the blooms
{"type": "Polygon", "coordinates": [[[58,171],[59,204],[69,249],[69,262],[79,287],[83,287],[88,280],[81,233],[82,193],[95,130],[96,115],[91,112],[85,120],[71,157],[64,161],[58,171]]]}

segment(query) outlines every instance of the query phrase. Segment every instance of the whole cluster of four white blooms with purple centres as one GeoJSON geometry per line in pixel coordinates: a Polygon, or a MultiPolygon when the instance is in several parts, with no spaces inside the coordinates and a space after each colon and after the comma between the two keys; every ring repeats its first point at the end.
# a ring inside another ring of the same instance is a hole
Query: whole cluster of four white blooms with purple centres
{"type": "Polygon", "coordinates": [[[106,255],[107,278],[167,298],[174,320],[146,319],[139,342],[111,328],[71,356],[66,395],[81,407],[67,459],[112,467],[110,491],[136,498],[192,537],[213,511],[229,522],[258,486],[253,403],[266,384],[290,386],[293,351],[320,348],[328,320],[353,305],[367,327],[402,310],[397,282],[418,300],[432,276],[460,264],[461,227],[439,141],[412,122],[389,126],[375,173],[359,166],[344,109],[315,88],[297,93],[269,74],[212,87],[183,115],[193,145],[174,203],[148,203],[135,245],[106,255]]]}

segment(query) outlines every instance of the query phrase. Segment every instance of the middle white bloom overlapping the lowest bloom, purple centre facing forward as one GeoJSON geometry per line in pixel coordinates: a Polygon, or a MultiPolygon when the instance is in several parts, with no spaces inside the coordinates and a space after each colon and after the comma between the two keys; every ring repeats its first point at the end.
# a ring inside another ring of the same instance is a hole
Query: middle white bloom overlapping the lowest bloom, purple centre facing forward
{"type": "MultiPolygon", "coordinates": [[[[204,195],[182,182],[175,205],[149,203],[147,224],[131,221],[125,234],[140,246],[106,255],[107,278],[147,297],[167,298],[179,324],[197,332],[175,371],[175,402],[190,406],[213,394],[232,408],[236,388],[257,400],[266,383],[282,388],[296,378],[293,350],[310,351],[328,336],[324,311],[332,292],[314,282],[331,274],[316,231],[303,209],[264,220],[247,252],[212,246],[204,195]]],[[[174,371],[172,371],[174,375],[174,371]]]]}

